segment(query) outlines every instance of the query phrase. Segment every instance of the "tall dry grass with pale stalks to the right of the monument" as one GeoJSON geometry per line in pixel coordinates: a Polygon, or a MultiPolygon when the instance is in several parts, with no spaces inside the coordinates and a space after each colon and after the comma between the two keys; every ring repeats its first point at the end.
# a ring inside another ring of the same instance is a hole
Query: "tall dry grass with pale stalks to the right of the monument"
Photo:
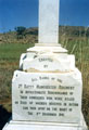
{"type": "Polygon", "coordinates": [[[68,41],[65,38],[62,43],[68,53],[75,54],[76,66],[82,74],[82,113],[89,128],[89,39],[74,38],[73,41],[68,41]]]}

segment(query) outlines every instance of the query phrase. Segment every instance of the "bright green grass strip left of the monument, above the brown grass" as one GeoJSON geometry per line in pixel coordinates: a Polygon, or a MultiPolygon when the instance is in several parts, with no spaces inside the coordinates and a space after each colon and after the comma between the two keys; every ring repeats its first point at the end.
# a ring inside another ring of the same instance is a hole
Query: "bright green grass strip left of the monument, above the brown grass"
{"type": "Polygon", "coordinates": [[[18,61],[21,54],[26,52],[29,47],[33,47],[33,44],[2,43],[0,44],[0,61],[18,61]]]}

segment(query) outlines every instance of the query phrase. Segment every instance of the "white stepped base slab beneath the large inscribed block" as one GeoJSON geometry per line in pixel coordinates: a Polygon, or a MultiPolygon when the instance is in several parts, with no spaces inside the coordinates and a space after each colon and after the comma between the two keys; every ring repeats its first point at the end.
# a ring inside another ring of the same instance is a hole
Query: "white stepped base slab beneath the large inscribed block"
{"type": "Polygon", "coordinates": [[[88,129],[82,117],[80,125],[11,120],[4,126],[2,130],[88,130],[88,129]]]}

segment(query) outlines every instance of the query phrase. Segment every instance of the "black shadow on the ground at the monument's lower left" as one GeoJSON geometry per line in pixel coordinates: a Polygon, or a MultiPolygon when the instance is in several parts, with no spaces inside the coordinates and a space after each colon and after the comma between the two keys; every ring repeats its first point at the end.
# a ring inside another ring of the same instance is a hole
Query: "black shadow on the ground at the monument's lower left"
{"type": "Polygon", "coordinates": [[[11,113],[9,113],[5,108],[2,107],[2,105],[0,105],[0,130],[2,130],[10,117],[11,113]]]}

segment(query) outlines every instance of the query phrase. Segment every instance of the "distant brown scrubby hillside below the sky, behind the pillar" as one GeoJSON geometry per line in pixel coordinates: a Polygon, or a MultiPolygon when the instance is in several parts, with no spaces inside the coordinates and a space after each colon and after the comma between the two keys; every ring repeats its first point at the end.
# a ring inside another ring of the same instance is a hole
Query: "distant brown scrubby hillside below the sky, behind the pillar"
{"type": "MultiPolygon", "coordinates": [[[[60,26],[60,40],[84,39],[89,37],[89,28],[75,26],[60,26]]],[[[18,36],[16,31],[0,34],[0,43],[36,43],[38,42],[38,28],[27,28],[23,36],[18,36]]]]}

